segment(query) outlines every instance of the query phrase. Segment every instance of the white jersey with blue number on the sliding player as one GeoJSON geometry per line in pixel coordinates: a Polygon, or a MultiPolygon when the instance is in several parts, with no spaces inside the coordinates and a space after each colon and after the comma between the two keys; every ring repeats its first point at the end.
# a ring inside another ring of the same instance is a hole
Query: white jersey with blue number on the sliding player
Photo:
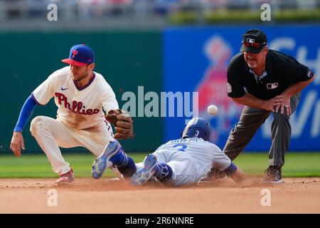
{"type": "Polygon", "coordinates": [[[196,163],[196,172],[199,176],[206,174],[210,167],[215,167],[220,171],[225,170],[231,163],[230,158],[218,146],[202,138],[170,140],[161,145],[156,153],[167,153],[169,151],[172,154],[178,152],[191,155],[193,162],[196,163]]]}

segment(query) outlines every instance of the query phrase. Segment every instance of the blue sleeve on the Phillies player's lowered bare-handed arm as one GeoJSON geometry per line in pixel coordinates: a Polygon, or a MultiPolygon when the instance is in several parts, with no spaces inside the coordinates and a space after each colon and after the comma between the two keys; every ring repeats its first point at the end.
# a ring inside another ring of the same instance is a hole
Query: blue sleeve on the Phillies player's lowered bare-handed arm
{"type": "Polygon", "coordinates": [[[26,99],[26,102],[23,104],[21,108],[18,122],[16,123],[16,128],[14,128],[14,132],[22,132],[24,126],[30,119],[33,110],[36,108],[37,104],[38,102],[32,94],[26,99]]]}

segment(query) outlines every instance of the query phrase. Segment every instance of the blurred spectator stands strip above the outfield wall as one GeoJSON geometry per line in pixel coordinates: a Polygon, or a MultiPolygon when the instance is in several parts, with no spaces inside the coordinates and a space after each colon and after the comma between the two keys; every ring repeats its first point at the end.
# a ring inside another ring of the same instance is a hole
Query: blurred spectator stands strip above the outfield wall
{"type": "Polygon", "coordinates": [[[271,24],[320,19],[319,0],[0,0],[0,25],[9,30],[87,30],[260,23],[265,3],[272,9],[271,24]],[[58,6],[58,23],[48,26],[47,7],[52,3],[58,6]]]}

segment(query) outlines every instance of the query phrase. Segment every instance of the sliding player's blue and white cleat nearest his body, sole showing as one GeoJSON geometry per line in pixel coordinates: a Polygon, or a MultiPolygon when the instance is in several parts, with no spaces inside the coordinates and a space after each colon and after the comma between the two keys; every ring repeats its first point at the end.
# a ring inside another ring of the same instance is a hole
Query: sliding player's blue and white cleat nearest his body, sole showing
{"type": "Polygon", "coordinates": [[[146,155],[144,159],[144,167],[142,170],[137,171],[131,177],[132,185],[144,185],[151,177],[154,176],[154,167],[156,167],[156,156],[146,155]]]}

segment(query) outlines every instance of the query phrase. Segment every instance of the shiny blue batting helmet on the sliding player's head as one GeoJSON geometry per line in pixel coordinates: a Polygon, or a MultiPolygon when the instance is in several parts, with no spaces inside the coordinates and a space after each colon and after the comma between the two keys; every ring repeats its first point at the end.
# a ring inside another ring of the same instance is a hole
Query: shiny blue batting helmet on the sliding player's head
{"type": "Polygon", "coordinates": [[[210,139],[211,126],[210,123],[203,118],[193,118],[186,125],[181,133],[181,138],[203,138],[208,141],[210,139]]]}

